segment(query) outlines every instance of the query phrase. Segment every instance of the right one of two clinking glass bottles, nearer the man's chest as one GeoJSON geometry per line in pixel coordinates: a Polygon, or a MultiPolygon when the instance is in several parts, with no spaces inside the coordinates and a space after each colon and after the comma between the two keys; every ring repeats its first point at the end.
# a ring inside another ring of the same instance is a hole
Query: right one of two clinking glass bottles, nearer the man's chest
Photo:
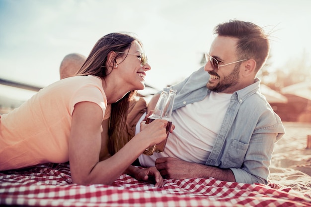
{"type": "Polygon", "coordinates": [[[164,105],[164,108],[162,111],[161,118],[167,120],[166,139],[156,145],[156,149],[155,149],[156,153],[163,153],[163,151],[165,149],[166,141],[167,141],[167,138],[169,135],[169,130],[172,126],[171,115],[172,115],[172,111],[173,111],[173,105],[174,105],[174,101],[175,101],[175,97],[176,97],[176,92],[177,91],[175,89],[169,90],[168,97],[166,99],[166,102],[165,102],[165,105],[164,105]]]}

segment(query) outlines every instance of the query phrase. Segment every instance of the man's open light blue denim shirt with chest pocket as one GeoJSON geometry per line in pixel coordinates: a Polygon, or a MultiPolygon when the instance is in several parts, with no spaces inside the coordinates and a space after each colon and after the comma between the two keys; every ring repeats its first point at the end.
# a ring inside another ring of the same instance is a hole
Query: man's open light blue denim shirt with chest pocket
{"type": "MultiPolygon", "coordinates": [[[[177,90],[173,110],[202,101],[211,92],[206,87],[208,80],[209,74],[202,67],[183,82],[164,89],[177,90]]],[[[280,117],[261,95],[259,83],[256,78],[255,83],[233,93],[205,163],[230,168],[239,183],[267,184],[274,143],[285,133],[280,117]]]]}

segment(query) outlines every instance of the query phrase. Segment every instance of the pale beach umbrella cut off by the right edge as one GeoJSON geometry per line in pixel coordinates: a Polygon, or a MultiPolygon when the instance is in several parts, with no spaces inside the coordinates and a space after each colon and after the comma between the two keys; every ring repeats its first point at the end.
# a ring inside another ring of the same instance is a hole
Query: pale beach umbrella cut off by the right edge
{"type": "Polygon", "coordinates": [[[284,87],[281,90],[282,94],[291,94],[311,100],[311,82],[302,82],[284,87]]]}

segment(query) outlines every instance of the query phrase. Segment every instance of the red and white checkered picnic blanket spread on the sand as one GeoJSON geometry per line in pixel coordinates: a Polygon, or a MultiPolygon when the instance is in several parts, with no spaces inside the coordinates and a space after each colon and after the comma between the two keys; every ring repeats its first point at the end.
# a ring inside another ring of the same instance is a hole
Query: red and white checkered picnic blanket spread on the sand
{"type": "Polygon", "coordinates": [[[0,172],[0,206],[66,207],[308,207],[309,194],[269,183],[164,179],[164,187],[121,175],[112,186],[72,184],[69,164],[0,172]]]}

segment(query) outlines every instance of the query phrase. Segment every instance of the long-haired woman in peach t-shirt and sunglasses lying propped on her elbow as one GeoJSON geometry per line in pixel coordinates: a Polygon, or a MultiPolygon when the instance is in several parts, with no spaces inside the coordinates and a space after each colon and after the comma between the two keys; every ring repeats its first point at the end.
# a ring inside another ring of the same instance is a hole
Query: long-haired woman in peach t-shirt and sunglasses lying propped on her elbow
{"type": "MultiPolygon", "coordinates": [[[[146,148],[166,138],[167,122],[156,120],[143,123],[142,132],[116,154],[107,150],[108,133],[122,133],[129,100],[134,90],[144,89],[150,69],[136,38],[112,33],[99,39],[77,76],[47,86],[0,117],[0,170],[70,161],[73,183],[111,184],[146,148]],[[109,131],[103,121],[107,104],[109,131]]],[[[126,173],[163,183],[155,168],[130,167],[126,173]]]]}

